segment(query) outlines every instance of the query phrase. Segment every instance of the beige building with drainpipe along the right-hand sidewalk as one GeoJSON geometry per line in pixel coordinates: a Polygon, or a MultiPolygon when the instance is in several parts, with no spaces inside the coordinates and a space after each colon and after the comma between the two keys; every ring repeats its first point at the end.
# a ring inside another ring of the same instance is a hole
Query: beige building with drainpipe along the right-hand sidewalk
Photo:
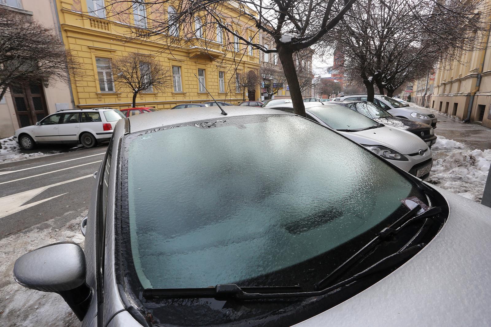
{"type": "Polygon", "coordinates": [[[486,44],[484,49],[464,52],[460,58],[438,65],[430,107],[460,120],[482,122],[482,126],[491,127],[489,32],[481,40],[486,44]]]}

